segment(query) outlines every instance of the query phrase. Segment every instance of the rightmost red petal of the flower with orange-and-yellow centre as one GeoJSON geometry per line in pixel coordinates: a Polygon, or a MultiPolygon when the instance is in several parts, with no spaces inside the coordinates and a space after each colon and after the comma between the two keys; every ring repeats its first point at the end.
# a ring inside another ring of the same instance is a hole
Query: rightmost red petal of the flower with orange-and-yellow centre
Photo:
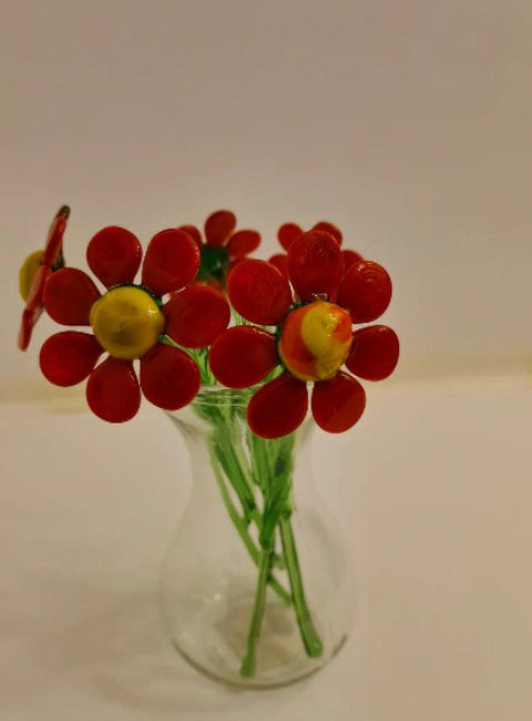
{"type": "Polygon", "coordinates": [[[366,380],[382,380],[393,373],[399,359],[399,338],[387,325],[371,325],[352,334],[346,366],[366,380]]]}

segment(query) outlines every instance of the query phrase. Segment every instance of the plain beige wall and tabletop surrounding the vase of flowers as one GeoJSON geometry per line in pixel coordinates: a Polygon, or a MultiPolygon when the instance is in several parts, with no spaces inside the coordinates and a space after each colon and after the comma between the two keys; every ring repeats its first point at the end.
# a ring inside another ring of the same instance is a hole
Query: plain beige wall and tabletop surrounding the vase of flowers
{"type": "Polygon", "coordinates": [[[530,0],[0,8],[0,718],[529,719],[530,0]],[[63,202],[72,265],[104,225],[147,241],[226,206],[265,256],[282,222],[330,220],[390,271],[398,373],[315,445],[360,599],[308,683],[235,695],[174,658],[164,419],[109,428],[44,389],[51,323],[17,352],[17,270],[63,202]]]}

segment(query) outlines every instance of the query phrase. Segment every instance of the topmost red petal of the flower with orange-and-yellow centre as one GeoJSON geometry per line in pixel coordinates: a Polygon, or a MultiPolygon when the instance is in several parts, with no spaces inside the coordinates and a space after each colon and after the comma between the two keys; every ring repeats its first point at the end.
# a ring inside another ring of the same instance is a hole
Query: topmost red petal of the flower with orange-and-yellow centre
{"type": "Polygon", "coordinates": [[[301,301],[334,296],[344,274],[340,246],[325,231],[299,235],[288,248],[288,273],[301,301]]]}

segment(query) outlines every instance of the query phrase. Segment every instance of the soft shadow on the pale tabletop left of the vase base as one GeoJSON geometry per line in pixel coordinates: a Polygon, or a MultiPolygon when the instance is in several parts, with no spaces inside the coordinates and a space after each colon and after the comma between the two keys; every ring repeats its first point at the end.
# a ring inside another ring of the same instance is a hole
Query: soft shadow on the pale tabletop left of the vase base
{"type": "MultiPolygon", "coordinates": [[[[35,640],[40,662],[54,667],[78,694],[135,711],[219,715],[234,712],[236,702],[239,712],[254,709],[274,693],[223,686],[190,668],[163,634],[156,589],[136,589],[123,601],[106,589],[85,589],[92,595],[96,590],[102,596],[100,612],[35,640]]],[[[277,700],[286,692],[276,690],[277,700]]],[[[289,693],[293,697],[294,690],[289,693]]]]}

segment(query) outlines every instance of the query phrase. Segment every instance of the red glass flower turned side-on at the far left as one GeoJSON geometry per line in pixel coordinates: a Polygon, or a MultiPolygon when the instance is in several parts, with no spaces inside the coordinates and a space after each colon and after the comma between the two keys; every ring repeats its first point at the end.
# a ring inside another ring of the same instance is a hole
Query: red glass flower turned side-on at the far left
{"type": "Polygon", "coordinates": [[[63,234],[70,215],[70,207],[59,209],[48,232],[43,251],[34,251],[22,264],[19,272],[20,295],[25,302],[19,331],[19,348],[25,351],[42,311],[44,286],[52,273],[64,265],[63,234]]]}

